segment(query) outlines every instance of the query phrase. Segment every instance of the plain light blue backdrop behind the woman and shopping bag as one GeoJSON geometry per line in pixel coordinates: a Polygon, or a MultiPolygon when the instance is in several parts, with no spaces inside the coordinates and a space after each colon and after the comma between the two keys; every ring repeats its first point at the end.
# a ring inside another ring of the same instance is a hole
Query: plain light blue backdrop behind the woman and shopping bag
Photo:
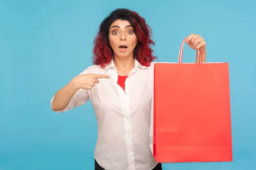
{"type": "MultiPolygon", "coordinates": [[[[0,0],[0,170],[93,169],[91,103],[54,113],[50,100],[92,65],[99,24],[122,7],[145,17],[159,61],[178,62],[181,41],[195,33],[207,42],[207,62],[229,62],[233,162],[163,164],[163,170],[254,169],[255,6],[253,0],[0,0]]],[[[183,62],[194,60],[185,45],[183,62]]]]}

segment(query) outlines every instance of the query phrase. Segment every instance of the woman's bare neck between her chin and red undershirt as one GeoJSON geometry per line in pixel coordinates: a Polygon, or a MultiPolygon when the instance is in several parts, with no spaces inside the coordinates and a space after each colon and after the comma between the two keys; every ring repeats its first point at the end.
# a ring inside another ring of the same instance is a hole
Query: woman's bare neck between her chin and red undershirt
{"type": "Polygon", "coordinates": [[[119,76],[127,76],[134,68],[134,57],[117,57],[113,58],[116,70],[119,76]]]}

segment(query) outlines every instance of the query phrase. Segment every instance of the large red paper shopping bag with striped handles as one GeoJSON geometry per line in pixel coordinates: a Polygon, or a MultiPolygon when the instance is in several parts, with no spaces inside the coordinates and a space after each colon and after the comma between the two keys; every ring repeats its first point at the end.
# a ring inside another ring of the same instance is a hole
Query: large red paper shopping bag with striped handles
{"type": "MultiPolygon", "coordinates": [[[[154,64],[157,162],[232,161],[228,63],[154,64]]],[[[201,51],[199,51],[201,54],[201,51]]]]}

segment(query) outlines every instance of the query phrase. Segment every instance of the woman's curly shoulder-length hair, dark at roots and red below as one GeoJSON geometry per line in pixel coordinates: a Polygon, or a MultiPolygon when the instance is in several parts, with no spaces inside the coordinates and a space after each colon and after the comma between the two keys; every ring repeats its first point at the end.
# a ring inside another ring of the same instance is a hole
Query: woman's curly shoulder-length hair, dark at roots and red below
{"type": "Polygon", "coordinates": [[[127,20],[134,28],[134,33],[139,41],[134,48],[134,58],[144,66],[149,66],[150,63],[157,57],[153,56],[153,50],[150,45],[155,45],[151,40],[151,28],[137,12],[125,8],[119,8],[111,12],[99,26],[99,31],[93,42],[93,64],[105,67],[111,61],[113,49],[109,45],[109,28],[115,20],[127,20]]]}

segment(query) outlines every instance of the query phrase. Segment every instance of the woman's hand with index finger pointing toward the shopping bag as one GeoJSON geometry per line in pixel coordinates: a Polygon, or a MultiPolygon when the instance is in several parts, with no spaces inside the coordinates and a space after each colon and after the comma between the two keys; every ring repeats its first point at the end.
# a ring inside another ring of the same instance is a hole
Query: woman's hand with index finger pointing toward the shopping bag
{"type": "Polygon", "coordinates": [[[81,74],[73,79],[73,84],[76,89],[80,88],[91,90],[96,84],[99,83],[98,79],[109,79],[110,76],[104,74],[81,74]]]}

